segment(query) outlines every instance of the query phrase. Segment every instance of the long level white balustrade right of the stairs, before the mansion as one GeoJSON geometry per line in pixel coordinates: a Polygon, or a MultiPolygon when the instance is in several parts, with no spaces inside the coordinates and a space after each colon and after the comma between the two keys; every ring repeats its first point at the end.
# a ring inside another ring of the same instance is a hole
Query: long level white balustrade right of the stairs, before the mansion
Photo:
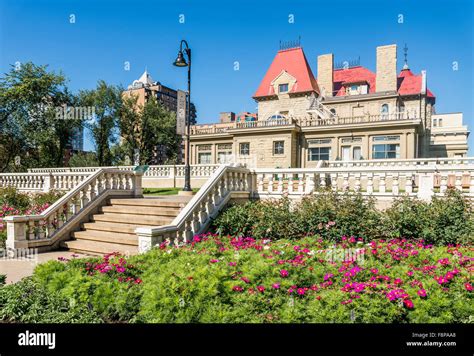
{"type": "Polygon", "coordinates": [[[353,166],[305,169],[256,169],[254,197],[301,196],[320,188],[355,191],[376,198],[402,195],[430,200],[455,187],[474,198],[474,164],[465,166],[353,166]]]}

